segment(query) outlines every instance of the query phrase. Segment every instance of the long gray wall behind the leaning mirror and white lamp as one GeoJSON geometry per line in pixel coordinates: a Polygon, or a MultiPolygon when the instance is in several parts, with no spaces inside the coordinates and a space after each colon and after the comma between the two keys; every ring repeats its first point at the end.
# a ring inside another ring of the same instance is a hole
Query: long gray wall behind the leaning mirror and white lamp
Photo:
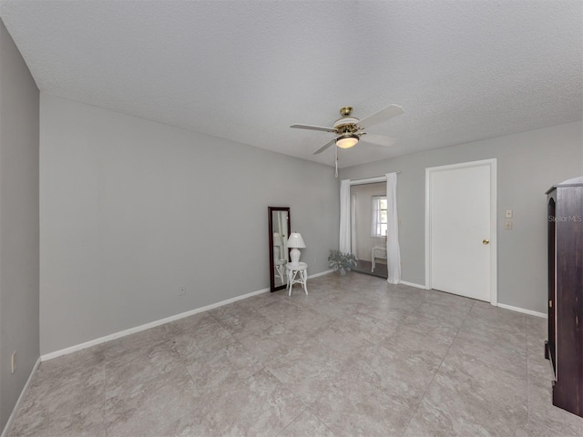
{"type": "Polygon", "coordinates": [[[291,208],[309,274],[328,269],[332,168],[45,94],[40,107],[42,354],[268,288],[268,206],[291,208]]]}

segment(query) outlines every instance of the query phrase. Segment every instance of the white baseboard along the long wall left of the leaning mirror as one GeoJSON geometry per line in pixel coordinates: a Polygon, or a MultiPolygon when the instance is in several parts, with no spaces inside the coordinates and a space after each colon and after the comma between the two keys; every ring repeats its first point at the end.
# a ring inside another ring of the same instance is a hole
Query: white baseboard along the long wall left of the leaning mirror
{"type": "MultiPolygon", "coordinates": [[[[318,273],[318,275],[320,275],[320,273],[318,273]]],[[[316,276],[316,275],[314,275],[314,276],[316,276]]],[[[85,343],[77,344],[76,346],[71,346],[70,348],[62,349],[60,351],[46,353],[44,355],[41,355],[40,361],[52,360],[52,359],[54,359],[56,357],[60,357],[62,355],[66,355],[66,354],[77,352],[77,351],[82,351],[82,350],[90,348],[92,346],[96,346],[97,344],[105,343],[106,341],[116,340],[116,339],[119,339],[120,337],[125,337],[125,336],[130,335],[130,334],[135,334],[136,332],[139,332],[141,330],[149,330],[150,328],[155,328],[159,325],[164,325],[166,323],[169,323],[170,321],[183,319],[185,317],[189,317],[189,316],[192,316],[194,314],[198,314],[199,312],[212,310],[214,308],[222,307],[223,305],[228,305],[232,302],[236,302],[237,300],[251,298],[252,296],[257,296],[258,294],[267,293],[269,291],[270,291],[270,289],[251,291],[251,293],[243,294],[241,296],[237,296],[235,298],[231,298],[228,300],[221,300],[220,302],[212,303],[212,304],[207,305],[205,307],[200,307],[200,308],[197,308],[194,310],[181,312],[179,314],[167,317],[165,319],[150,321],[149,323],[145,323],[143,325],[139,325],[139,326],[136,326],[134,328],[129,328],[128,330],[120,330],[119,332],[115,332],[113,334],[109,334],[109,335],[106,335],[105,337],[100,337],[100,338],[95,339],[95,340],[86,341],[85,343]]]]}

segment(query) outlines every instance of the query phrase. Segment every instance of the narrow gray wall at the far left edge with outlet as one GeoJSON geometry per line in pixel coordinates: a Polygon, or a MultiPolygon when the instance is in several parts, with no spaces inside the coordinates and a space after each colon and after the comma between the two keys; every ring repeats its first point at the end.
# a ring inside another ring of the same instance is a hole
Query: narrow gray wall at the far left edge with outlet
{"type": "Polygon", "coordinates": [[[0,20],[0,430],[38,356],[38,89],[0,20]]]}

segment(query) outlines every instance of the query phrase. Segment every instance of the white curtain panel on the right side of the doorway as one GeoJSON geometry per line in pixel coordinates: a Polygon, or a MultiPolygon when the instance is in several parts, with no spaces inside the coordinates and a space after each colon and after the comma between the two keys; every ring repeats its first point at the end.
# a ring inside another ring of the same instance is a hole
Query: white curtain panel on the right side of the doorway
{"type": "MultiPolygon", "coordinates": [[[[341,188],[342,189],[342,188],[341,188]]],[[[390,284],[401,281],[401,250],[399,249],[399,218],[397,215],[397,174],[386,174],[386,203],[387,203],[387,239],[386,239],[386,267],[390,284]]],[[[342,210],[342,207],[341,207],[342,210]]],[[[342,235],[342,218],[340,221],[342,235]]]]}

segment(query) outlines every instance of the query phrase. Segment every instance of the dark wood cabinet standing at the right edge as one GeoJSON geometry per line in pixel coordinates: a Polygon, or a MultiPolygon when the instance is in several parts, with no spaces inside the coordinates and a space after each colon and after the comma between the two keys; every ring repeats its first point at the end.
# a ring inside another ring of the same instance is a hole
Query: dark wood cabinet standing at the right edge
{"type": "Polygon", "coordinates": [[[583,417],[583,177],[547,191],[547,220],[553,404],[583,417]]]}

